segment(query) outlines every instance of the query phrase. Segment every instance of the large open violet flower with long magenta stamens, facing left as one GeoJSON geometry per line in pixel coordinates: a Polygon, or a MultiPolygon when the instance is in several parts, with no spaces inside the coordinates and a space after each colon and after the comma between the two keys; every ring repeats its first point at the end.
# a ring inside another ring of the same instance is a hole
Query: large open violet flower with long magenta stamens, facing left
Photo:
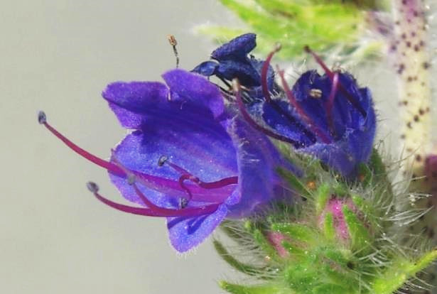
{"type": "Polygon", "coordinates": [[[201,75],[171,70],[161,82],[114,82],[104,99],[122,126],[133,129],[108,162],[39,120],[70,148],[109,171],[135,206],[88,187],[97,199],[131,214],[167,217],[171,244],[184,252],[202,242],[225,217],[247,217],[284,196],[269,138],[227,111],[217,86],[201,75]]]}

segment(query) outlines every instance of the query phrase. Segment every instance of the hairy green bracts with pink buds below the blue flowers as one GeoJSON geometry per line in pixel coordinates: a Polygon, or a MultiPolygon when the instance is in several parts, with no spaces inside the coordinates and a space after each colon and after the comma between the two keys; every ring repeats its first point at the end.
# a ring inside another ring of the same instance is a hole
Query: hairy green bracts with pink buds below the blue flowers
{"type": "Polygon", "coordinates": [[[419,238],[411,250],[401,246],[406,228],[421,212],[408,217],[396,212],[392,185],[377,151],[355,183],[326,172],[314,160],[300,160],[308,167],[306,177],[280,173],[301,201],[282,203],[246,222],[222,224],[237,246],[230,250],[216,240],[217,252],[257,282],[223,281],[220,286],[235,294],[391,294],[421,285],[415,277],[437,251],[423,249],[419,238]],[[239,260],[248,253],[257,258],[239,260]]]}

